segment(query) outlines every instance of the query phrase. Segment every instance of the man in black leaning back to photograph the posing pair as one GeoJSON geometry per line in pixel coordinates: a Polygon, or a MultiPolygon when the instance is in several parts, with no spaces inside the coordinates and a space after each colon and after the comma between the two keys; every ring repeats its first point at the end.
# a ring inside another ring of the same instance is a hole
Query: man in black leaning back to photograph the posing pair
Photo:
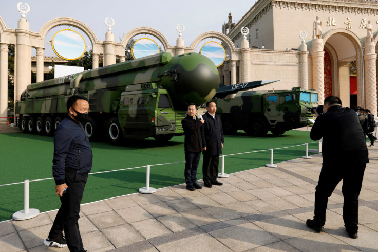
{"type": "Polygon", "coordinates": [[[329,96],[324,100],[322,115],[316,112],[311,129],[312,140],[323,137],[323,167],[315,189],[314,219],[308,227],[324,231],[328,197],[343,179],[344,226],[350,238],[357,238],[358,196],[360,195],[366,163],[369,162],[366,140],[355,112],[343,108],[341,100],[329,96]]]}

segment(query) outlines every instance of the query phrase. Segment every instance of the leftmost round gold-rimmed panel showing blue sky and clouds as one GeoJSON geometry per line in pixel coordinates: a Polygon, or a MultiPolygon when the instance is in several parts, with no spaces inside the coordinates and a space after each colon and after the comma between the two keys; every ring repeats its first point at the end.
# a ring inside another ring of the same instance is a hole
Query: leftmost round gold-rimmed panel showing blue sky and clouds
{"type": "Polygon", "coordinates": [[[85,49],[86,49],[86,43],[83,36],[79,32],[71,30],[71,29],[64,29],[64,30],[60,30],[56,32],[54,36],[52,37],[51,46],[55,54],[58,55],[59,58],[62,58],[65,60],[79,59],[80,57],[84,55],[85,49]],[[67,32],[73,35],[67,36],[66,34],[64,34],[67,32]],[[66,38],[68,38],[68,41],[62,40],[62,38],[60,38],[60,35],[66,36],[66,38]],[[83,47],[83,51],[81,51],[81,47],[83,47]],[[67,55],[67,51],[69,51],[69,55],[67,55]]]}

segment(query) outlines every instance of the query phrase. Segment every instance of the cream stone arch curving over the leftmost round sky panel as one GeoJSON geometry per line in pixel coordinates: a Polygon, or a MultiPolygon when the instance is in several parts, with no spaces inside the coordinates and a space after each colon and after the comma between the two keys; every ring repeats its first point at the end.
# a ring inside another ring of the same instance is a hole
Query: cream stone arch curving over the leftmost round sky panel
{"type": "Polygon", "coordinates": [[[72,19],[71,17],[57,17],[56,19],[48,21],[42,26],[39,34],[43,39],[45,39],[46,34],[49,30],[62,25],[69,25],[82,30],[88,36],[90,42],[92,43],[92,46],[99,44],[96,34],[94,34],[92,29],[89,28],[89,26],[87,26],[79,20],[72,19]]]}

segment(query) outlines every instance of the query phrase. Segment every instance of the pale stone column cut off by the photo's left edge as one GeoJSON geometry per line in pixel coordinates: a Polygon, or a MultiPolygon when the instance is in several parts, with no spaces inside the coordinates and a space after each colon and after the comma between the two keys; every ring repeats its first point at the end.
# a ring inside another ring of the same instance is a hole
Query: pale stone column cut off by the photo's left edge
{"type": "Polygon", "coordinates": [[[8,44],[0,43],[0,124],[8,116],[8,44]]]}

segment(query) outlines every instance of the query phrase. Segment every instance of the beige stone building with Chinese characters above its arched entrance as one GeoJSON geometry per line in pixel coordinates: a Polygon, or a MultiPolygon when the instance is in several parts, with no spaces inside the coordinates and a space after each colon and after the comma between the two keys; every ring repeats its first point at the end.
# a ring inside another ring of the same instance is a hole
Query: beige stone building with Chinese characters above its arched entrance
{"type": "Polygon", "coordinates": [[[238,23],[230,16],[223,33],[236,49],[248,51],[249,63],[242,69],[241,60],[226,61],[219,68],[221,82],[234,84],[235,67],[237,83],[279,79],[269,89],[315,89],[319,103],[337,95],[344,106],[376,115],[376,0],[258,0],[238,23]],[[245,39],[243,27],[249,29],[245,39]]]}

